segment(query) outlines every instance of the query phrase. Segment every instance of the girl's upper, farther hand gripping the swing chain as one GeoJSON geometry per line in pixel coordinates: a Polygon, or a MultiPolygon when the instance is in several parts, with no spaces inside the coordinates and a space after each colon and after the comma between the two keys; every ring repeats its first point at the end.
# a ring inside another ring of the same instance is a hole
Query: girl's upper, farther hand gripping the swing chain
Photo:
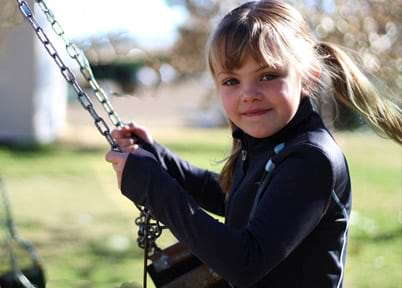
{"type": "Polygon", "coordinates": [[[151,133],[144,126],[137,125],[134,122],[113,129],[111,134],[121,150],[127,153],[134,152],[138,148],[138,140],[134,140],[133,136],[137,136],[149,144],[154,142],[151,133]]]}

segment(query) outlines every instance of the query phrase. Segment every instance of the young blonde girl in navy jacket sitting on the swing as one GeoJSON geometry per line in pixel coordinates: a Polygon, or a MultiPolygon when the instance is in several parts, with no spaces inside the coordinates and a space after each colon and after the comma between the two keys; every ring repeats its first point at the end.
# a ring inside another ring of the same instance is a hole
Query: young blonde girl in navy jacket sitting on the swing
{"type": "Polygon", "coordinates": [[[281,1],[227,14],[208,60],[233,132],[221,174],[191,166],[130,124],[112,133],[124,153],[106,155],[121,191],[234,287],[342,287],[350,178],[312,103],[332,93],[398,143],[401,111],[281,1]]]}

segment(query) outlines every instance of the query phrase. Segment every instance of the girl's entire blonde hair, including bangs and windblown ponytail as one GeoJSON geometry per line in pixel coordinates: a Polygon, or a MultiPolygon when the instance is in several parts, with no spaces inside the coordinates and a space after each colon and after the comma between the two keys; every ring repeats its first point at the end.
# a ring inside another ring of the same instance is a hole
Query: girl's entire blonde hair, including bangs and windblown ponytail
{"type": "MultiPolygon", "coordinates": [[[[317,98],[331,91],[337,101],[359,112],[378,134],[402,143],[400,107],[380,97],[342,49],[316,41],[292,6],[279,0],[251,1],[221,20],[208,49],[208,65],[214,78],[218,69],[241,67],[247,55],[274,68],[291,66],[299,73],[309,97],[317,98]]],[[[232,130],[236,128],[230,124],[232,130]]],[[[229,189],[239,153],[240,142],[234,139],[232,154],[221,172],[224,191],[229,189]]]]}

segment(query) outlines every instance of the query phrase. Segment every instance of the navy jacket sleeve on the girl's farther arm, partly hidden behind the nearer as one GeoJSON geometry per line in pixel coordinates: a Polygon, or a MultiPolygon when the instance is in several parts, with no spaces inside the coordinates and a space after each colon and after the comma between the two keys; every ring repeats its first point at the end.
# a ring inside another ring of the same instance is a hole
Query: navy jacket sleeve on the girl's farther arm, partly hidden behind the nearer
{"type": "Polygon", "coordinates": [[[144,142],[141,147],[152,153],[163,169],[194,197],[198,205],[224,216],[225,193],[219,184],[218,174],[191,165],[157,142],[152,145],[144,142]]]}

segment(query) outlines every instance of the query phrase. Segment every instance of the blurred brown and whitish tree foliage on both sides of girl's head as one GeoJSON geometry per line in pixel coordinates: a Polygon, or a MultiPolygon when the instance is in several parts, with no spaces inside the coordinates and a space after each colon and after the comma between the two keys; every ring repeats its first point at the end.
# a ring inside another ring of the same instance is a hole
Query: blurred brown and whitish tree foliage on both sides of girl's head
{"type": "MultiPolygon", "coordinates": [[[[181,73],[203,73],[205,43],[211,28],[230,7],[244,1],[173,1],[185,5],[191,17],[169,51],[181,73]]],[[[308,20],[321,41],[356,51],[367,73],[382,75],[391,87],[402,88],[402,2],[385,0],[289,1],[308,20]]]]}

